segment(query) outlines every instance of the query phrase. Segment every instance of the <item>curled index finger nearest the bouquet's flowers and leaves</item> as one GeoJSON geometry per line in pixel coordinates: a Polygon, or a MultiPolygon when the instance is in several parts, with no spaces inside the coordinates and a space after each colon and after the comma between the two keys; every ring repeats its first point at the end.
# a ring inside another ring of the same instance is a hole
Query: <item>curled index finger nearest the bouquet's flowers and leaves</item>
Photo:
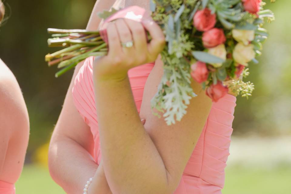
{"type": "Polygon", "coordinates": [[[152,37],[151,42],[148,44],[148,50],[151,55],[157,55],[163,50],[165,46],[165,36],[162,32],[162,29],[159,25],[151,20],[142,21],[142,24],[149,31],[149,34],[152,37]]]}

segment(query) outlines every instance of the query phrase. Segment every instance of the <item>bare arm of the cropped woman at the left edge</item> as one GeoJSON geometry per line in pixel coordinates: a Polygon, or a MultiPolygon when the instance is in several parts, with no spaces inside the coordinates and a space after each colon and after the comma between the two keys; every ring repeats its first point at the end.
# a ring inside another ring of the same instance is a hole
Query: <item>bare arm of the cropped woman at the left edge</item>
{"type": "MultiPolygon", "coordinates": [[[[29,138],[29,118],[20,86],[8,67],[0,59],[0,174],[7,151],[14,154],[14,170],[21,172],[29,138]],[[13,144],[17,142],[17,144],[13,144]],[[11,145],[9,146],[9,143],[11,145]],[[8,147],[9,146],[9,147],[8,147]],[[13,151],[13,147],[15,147],[13,151]],[[11,152],[12,150],[12,152],[11,152]],[[19,169],[19,170],[18,170],[19,169]]],[[[18,179],[18,174],[10,176],[18,179]]]]}

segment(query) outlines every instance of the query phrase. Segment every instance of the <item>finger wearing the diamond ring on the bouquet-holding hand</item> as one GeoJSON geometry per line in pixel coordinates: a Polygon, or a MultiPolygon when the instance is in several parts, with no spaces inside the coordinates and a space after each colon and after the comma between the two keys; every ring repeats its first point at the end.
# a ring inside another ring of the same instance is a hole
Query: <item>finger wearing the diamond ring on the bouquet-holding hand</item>
{"type": "MultiPolygon", "coordinates": [[[[132,41],[132,32],[130,31],[128,25],[126,24],[126,22],[124,21],[124,19],[117,19],[115,22],[115,25],[117,27],[118,30],[118,34],[119,34],[119,38],[121,42],[129,42],[132,41]]],[[[120,42],[120,44],[121,44],[120,42]]],[[[122,50],[124,51],[124,53],[129,54],[129,53],[133,53],[134,52],[134,45],[132,47],[122,47],[122,50]]]]}

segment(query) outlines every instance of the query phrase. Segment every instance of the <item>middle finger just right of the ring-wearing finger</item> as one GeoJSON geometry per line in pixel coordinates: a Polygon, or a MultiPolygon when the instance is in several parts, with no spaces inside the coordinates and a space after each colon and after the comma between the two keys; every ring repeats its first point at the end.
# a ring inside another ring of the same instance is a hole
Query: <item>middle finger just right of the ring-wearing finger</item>
{"type": "Polygon", "coordinates": [[[139,53],[144,53],[147,49],[145,28],[140,22],[131,19],[125,19],[125,22],[132,32],[135,50],[139,53]]]}

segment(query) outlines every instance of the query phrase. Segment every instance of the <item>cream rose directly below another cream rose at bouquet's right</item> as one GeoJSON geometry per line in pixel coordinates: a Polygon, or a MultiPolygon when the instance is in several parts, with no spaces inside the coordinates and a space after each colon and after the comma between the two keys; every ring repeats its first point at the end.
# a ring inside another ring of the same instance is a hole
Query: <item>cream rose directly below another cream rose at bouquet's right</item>
{"type": "Polygon", "coordinates": [[[238,43],[233,50],[233,59],[244,66],[248,66],[248,62],[256,57],[256,52],[254,51],[254,45],[243,45],[243,43],[238,43]]]}

